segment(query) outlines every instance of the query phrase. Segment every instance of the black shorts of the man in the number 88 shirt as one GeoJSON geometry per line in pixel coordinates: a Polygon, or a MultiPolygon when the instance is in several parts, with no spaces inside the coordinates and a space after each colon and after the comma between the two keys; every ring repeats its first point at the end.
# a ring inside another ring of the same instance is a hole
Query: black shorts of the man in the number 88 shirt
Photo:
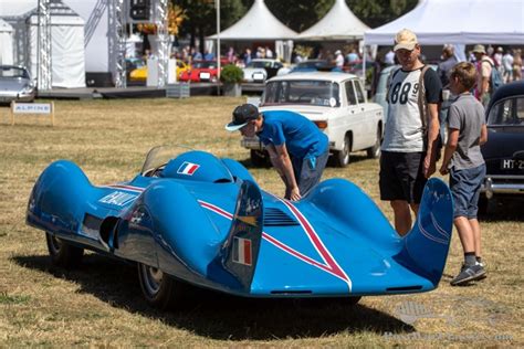
{"type": "Polygon", "coordinates": [[[380,200],[420,203],[428,179],[423,176],[426,152],[382,151],[380,156],[380,200]]]}

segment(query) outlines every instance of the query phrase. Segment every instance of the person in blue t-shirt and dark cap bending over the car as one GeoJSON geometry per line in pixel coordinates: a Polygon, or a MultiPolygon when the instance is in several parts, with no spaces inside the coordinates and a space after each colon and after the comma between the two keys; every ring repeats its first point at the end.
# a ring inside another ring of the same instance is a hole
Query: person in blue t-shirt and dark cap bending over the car
{"type": "Polygon", "coordinates": [[[300,200],[321,180],[328,140],[306,117],[287,110],[259,113],[254,105],[243,104],[234,109],[226,129],[259,137],[285,184],[285,199],[300,200]]]}

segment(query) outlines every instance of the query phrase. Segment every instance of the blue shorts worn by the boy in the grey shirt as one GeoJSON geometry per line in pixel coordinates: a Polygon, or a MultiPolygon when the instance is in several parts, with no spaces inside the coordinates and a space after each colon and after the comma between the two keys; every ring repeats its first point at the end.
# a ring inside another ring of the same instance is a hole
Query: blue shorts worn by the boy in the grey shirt
{"type": "Polygon", "coordinates": [[[476,218],[480,189],[484,177],[485,163],[464,170],[451,169],[450,189],[454,202],[453,218],[465,216],[469,220],[476,218]]]}

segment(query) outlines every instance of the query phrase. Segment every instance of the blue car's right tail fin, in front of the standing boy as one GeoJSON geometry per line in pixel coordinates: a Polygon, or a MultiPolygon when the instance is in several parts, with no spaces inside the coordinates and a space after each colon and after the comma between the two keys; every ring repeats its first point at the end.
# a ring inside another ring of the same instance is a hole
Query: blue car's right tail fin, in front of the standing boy
{"type": "Polygon", "coordinates": [[[446,266],[452,229],[450,189],[442,180],[432,178],[426,184],[417,221],[395,260],[437,287],[446,266]]]}

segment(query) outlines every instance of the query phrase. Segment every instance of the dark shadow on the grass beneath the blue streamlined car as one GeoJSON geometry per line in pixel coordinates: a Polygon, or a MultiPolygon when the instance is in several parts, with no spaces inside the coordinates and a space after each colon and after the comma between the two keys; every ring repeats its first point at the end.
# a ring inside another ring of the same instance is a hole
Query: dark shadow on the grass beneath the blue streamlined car
{"type": "Polygon", "coordinates": [[[196,289],[193,299],[179,310],[157,310],[142,297],[134,266],[97,254],[84,256],[78,269],[51,264],[48,256],[14,256],[19,265],[74,282],[82,293],[112,306],[158,318],[199,336],[227,340],[316,338],[339,332],[412,332],[399,319],[344,299],[254,299],[196,289]]]}

